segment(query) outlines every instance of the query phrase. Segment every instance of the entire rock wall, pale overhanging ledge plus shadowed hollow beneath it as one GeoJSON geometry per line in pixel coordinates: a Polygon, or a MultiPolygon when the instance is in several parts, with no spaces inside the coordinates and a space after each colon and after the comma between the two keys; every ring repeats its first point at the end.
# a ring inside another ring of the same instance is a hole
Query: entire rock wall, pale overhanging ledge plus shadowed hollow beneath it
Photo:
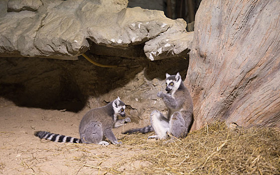
{"type": "Polygon", "coordinates": [[[0,1],[0,105],[79,111],[117,96],[132,121],[165,106],[165,73],[186,75],[193,32],[127,0],[0,1]],[[98,67],[84,57],[117,65],[98,67]],[[57,58],[57,59],[47,59],[57,58]],[[164,59],[169,58],[169,59],[164,59]],[[70,59],[70,60],[59,60],[70,59]],[[153,61],[152,61],[153,60],[153,61]]]}

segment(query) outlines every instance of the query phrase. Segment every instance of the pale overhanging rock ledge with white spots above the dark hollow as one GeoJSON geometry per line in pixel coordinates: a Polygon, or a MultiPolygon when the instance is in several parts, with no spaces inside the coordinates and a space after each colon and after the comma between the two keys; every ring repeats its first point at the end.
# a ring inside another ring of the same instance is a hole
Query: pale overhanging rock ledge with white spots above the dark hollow
{"type": "MultiPolygon", "coordinates": [[[[75,59],[92,44],[123,49],[122,52],[137,48],[151,60],[188,52],[192,34],[186,32],[184,20],[169,19],[163,11],[126,8],[127,2],[2,1],[7,8],[2,7],[6,12],[0,13],[0,55],[75,59]]],[[[103,50],[105,53],[96,53],[109,54],[103,50]]],[[[122,56],[122,52],[117,56],[122,56]]]]}

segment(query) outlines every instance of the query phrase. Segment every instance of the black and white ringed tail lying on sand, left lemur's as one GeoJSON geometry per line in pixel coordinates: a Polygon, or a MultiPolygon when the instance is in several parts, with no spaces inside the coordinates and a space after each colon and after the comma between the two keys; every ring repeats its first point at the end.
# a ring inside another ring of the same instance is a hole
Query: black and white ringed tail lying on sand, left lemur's
{"type": "Polygon", "coordinates": [[[34,132],[35,136],[38,136],[39,138],[45,138],[54,142],[69,142],[69,143],[81,143],[81,140],[79,138],[75,138],[72,136],[65,136],[60,135],[56,133],[51,133],[47,131],[36,131],[34,132]]]}

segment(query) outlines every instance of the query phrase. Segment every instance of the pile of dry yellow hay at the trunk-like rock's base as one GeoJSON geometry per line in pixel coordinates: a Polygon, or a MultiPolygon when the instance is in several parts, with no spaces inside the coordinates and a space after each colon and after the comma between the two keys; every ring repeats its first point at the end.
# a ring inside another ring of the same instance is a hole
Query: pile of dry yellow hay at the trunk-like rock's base
{"type": "MultiPolygon", "coordinates": [[[[153,133],[152,133],[153,134],[153,133]]],[[[151,133],[149,135],[152,135],[151,133]]],[[[147,141],[148,134],[123,135],[123,145],[145,153],[114,164],[119,169],[131,162],[138,168],[125,174],[280,174],[279,128],[229,129],[223,122],[206,125],[174,141],[147,141]]]]}

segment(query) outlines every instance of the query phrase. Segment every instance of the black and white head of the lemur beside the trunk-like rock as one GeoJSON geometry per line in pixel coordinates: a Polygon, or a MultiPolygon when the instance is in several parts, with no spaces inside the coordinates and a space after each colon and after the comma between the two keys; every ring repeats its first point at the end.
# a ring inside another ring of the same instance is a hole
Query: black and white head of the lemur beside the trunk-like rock
{"type": "Polygon", "coordinates": [[[167,93],[173,94],[179,88],[181,81],[182,79],[179,72],[176,75],[170,75],[166,73],[165,90],[167,91],[167,93]]]}

